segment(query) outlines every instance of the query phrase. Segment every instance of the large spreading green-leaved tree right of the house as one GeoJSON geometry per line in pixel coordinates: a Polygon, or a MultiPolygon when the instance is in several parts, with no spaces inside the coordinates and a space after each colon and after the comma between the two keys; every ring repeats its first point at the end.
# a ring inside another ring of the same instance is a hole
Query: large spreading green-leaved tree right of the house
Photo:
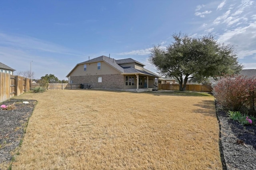
{"type": "Polygon", "coordinates": [[[179,33],[172,38],[174,41],[166,49],[154,46],[149,61],[162,76],[176,78],[180,91],[186,89],[188,79],[216,79],[242,69],[234,47],[218,43],[212,35],[194,38],[179,33]]]}

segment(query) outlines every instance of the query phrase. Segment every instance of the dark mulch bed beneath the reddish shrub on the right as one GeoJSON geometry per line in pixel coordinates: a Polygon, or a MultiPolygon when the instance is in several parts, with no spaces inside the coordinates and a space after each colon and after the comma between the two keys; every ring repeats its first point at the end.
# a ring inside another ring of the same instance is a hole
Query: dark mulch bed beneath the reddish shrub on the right
{"type": "Polygon", "coordinates": [[[256,170],[256,126],[242,126],[218,109],[222,166],[228,170],[256,170]],[[223,151],[223,152],[222,152],[223,151]],[[224,157],[224,159],[223,159],[224,157]]]}

